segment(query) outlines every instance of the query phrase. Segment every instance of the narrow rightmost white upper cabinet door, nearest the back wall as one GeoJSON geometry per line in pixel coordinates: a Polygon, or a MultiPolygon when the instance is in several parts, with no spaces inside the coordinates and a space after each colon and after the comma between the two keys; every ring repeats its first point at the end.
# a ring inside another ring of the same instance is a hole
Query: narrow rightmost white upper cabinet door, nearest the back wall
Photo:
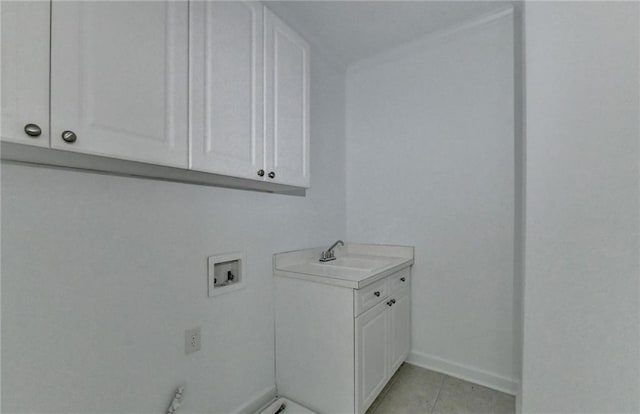
{"type": "Polygon", "coordinates": [[[275,182],[309,187],[309,46],[264,13],[265,169],[275,182]]]}

